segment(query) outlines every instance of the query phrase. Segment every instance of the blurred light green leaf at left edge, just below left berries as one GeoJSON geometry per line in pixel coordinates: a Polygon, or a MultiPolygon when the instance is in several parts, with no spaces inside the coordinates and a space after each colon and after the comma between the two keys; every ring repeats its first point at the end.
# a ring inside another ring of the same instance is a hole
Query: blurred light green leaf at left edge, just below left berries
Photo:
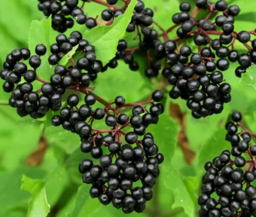
{"type": "MultiPolygon", "coordinates": [[[[0,106],[0,163],[8,170],[25,164],[26,158],[38,146],[41,126],[35,127],[18,116],[16,109],[0,106]]],[[[30,118],[31,120],[31,118],[30,118]]]]}

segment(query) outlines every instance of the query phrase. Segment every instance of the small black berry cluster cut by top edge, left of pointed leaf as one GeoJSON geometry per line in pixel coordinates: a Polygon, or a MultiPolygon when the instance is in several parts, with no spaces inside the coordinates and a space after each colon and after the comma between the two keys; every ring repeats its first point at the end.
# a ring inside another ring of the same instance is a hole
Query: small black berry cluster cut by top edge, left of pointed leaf
{"type": "MultiPolygon", "coordinates": [[[[45,16],[52,15],[52,27],[64,32],[74,25],[74,19],[78,24],[85,24],[87,28],[97,25],[96,19],[86,17],[83,7],[79,7],[79,0],[38,0],[38,8],[43,11],[45,16]],[[72,18],[73,17],[73,18],[72,18]]],[[[85,2],[87,0],[81,0],[85,2]]]]}

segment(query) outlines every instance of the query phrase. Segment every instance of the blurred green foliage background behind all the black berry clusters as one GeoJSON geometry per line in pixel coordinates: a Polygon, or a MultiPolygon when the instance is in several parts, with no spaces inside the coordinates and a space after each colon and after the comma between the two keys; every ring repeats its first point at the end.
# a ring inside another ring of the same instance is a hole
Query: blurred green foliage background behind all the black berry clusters
{"type": "MultiPolygon", "coordinates": [[[[228,1],[230,4],[238,4],[241,8],[241,13],[236,17],[235,31],[252,30],[256,27],[254,0],[246,0],[246,3],[241,0],[228,1]]],[[[49,44],[54,40],[57,33],[50,29],[48,20],[32,22],[32,20],[44,19],[43,14],[37,10],[37,2],[37,0],[1,2],[1,64],[7,53],[14,48],[34,47],[38,43],[49,44]],[[45,38],[45,35],[48,37],[45,38]]],[[[194,5],[194,0],[190,2],[194,5]]],[[[172,25],[171,17],[178,11],[180,1],[145,0],[145,3],[147,7],[154,9],[155,20],[168,28],[172,25]]],[[[86,3],[86,10],[92,11],[91,16],[100,13],[102,8],[95,3],[86,3]]],[[[125,20],[119,20],[119,22],[122,23],[125,20]]],[[[117,27],[117,23],[115,24],[117,27]]],[[[98,32],[87,32],[85,35],[89,41],[93,40],[98,46],[104,46],[106,39],[113,39],[113,35],[118,34],[118,28],[115,29],[114,34],[109,29],[105,29],[101,31],[102,36],[98,32]]],[[[84,26],[78,25],[75,25],[74,29],[83,32],[86,30],[84,26]]],[[[121,37],[122,34],[118,36],[121,37]]],[[[171,36],[175,36],[175,33],[170,33],[171,36]]],[[[133,41],[133,37],[134,35],[131,34],[124,35],[131,46],[136,46],[138,41],[133,41]]],[[[245,51],[242,45],[239,43],[236,45],[239,51],[245,51]]],[[[115,50],[111,50],[110,47],[108,52],[111,55],[115,50]]],[[[142,65],[144,60],[145,57],[140,56],[139,63],[142,65]]],[[[43,59],[40,75],[49,79],[52,69],[44,64],[46,61],[43,59]]],[[[255,70],[251,68],[249,70],[251,76],[247,74],[240,81],[234,74],[236,66],[231,64],[230,68],[224,72],[224,78],[232,85],[232,102],[225,106],[221,114],[199,120],[193,119],[190,112],[186,114],[187,138],[190,147],[196,153],[193,164],[186,163],[181,148],[177,144],[180,126],[169,116],[168,108],[171,100],[169,97],[165,99],[165,114],[160,117],[158,125],[149,127],[149,131],[156,137],[160,151],[164,152],[166,160],[161,165],[161,175],[154,187],[154,199],[149,202],[147,210],[141,214],[132,213],[130,216],[197,216],[197,195],[200,193],[199,183],[203,164],[230,147],[224,139],[223,126],[232,110],[240,110],[245,115],[245,124],[256,131],[256,110],[254,109],[256,85],[253,81],[255,70]]],[[[95,93],[109,101],[116,95],[125,96],[127,101],[137,101],[159,85],[158,80],[149,81],[143,73],[143,65],[139,71],[134,72],[120,61],[116,69],[99,75],[95,83],[97,87],[95,93]]],[[[0,84],[3,84],[2,80],[0,84]]],[[[8,98],[9,94],[0,90],[0,216],[123,216],[120,210],[114,209],[111,205],[104,207],[97,199],[91,199],[88,194],[89,186],[81,184],[81,175],[78,173],[77,166],[88,156],[80,153],[78,136],[61,127],[51,126],[49,117],[42,120],[18,117],[14,108],[4,105],[8,98]],[[27,166],[26,159],[36,150],[43,130],[49,142],[43,161],[40,166],[27,166]]],[[[182,111],[187,111],[183,101],[172,102],[178,103],[182,111]]],[[[51,115],[50,113],[49,116],[51,115]]]]}

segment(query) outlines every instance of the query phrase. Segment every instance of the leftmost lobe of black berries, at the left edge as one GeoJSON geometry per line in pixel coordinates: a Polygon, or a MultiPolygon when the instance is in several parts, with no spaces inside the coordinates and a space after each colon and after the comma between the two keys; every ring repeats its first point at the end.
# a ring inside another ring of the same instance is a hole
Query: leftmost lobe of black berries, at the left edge
{"type": "Polygon", "coordinates": [[[39,91],[33,91],[32,82],[37,79],[36,69],[41,65],[40,56],[46,54],[46,46],[39,44],[35,51],[37,55],[31,56],[27,48],[14,49],[7,55],[4,69],[0,71],[1,78],[6,80],[3,84],[4,91],[12,92],[9,104],[17,108],[20,116],[30,114],[33,118],[43,117],[49,108],[58,110],[61,101],[60,93],[57,93],[58,89],[53,94],[53,87],[49,89],[50,84],[42,86],[40,91],[43,95],[40,97],[39,91]],[[32,69],[28,69],[27,64],[23,62],[27,59],[32,69]],[[51,94],[49,94],[50,91],[52,91],[51,94]]]}

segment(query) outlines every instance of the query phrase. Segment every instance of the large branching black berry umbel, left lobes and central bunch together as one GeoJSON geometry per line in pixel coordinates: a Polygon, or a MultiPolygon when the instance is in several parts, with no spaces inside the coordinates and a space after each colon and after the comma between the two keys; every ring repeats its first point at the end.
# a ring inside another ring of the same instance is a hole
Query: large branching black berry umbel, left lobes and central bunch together
{"type": "MultiPolygon", "coordinates": [[[[108,103],[91,91],[95,87],[89,87],[98,72],[116,67],[116,59],[129,55],[124,52],[126,48],[126,41],[119,40],[116,57],[103,67],[96,60],[95,47],[83,39],[80,32],[73,31],[69,37],[60,33],[56,43],[50,46],[52,54],[48,61],[55,65],[50,82],[37,74],[41,56],[47,53],[47,47],[43,44],[36,46],[37,55],[31,56],[31,51],[25,48],[13,50],[7,55],[0,75],[6,80],[4,90],[12,92],[9,104],[17,108],[20,116],[41,118],[49,109],[60,110],[59,115],[52,117],[52,125],[62,125],[65,130],[77,133],[81,138],[81,151],[90,152],[92,158],[99,160],[96,164],[85,159],[79,165],[83,182],[92,184],[91,197],[97,197],[104,205],[112,201],[114,207],[130,213],[145,209],[146,201],[153,196],[151,188],[160,174],[159,164],[164,161],[153,135],[146,132],[150,124],[158,123],[159,115],[164,112],[164,106],[160,103],[164,93],[156,90],[150,100],[142,103],[125,103],[122,96],[108,103]],[[76,46],[77,54],[82,54],[82,57],[78,57],[75,63],[73,57],[69,56],[70,66],[58,64],[64,54],[76,46]],[[28,60],[29,65],[24,60],[28,60]],[[40,89],[33,89],[34,81],[43,83],[40,89]],[[63,107],[62,95],[67,89],[73,92],[67,97],[67,106],[63,107]],[[80,106],[78,91],[85,93],[85,103],[80,106]],[[104,108],[95,107],[96,101],[104,108]],[[125,114],[123,108],[132,108],[132,115],[125,114]],[[93,128],[94,121],[103,119],[108,129],[93,128]],[[103,153],[106,148],[109,154],[103,153]],[[139,180],[142,186],[138,187],[136,183],[134,187],[134,182],[139,180]]],[[[136,62],[129,62],[129,65],[133,68],[136,62]]]]}

